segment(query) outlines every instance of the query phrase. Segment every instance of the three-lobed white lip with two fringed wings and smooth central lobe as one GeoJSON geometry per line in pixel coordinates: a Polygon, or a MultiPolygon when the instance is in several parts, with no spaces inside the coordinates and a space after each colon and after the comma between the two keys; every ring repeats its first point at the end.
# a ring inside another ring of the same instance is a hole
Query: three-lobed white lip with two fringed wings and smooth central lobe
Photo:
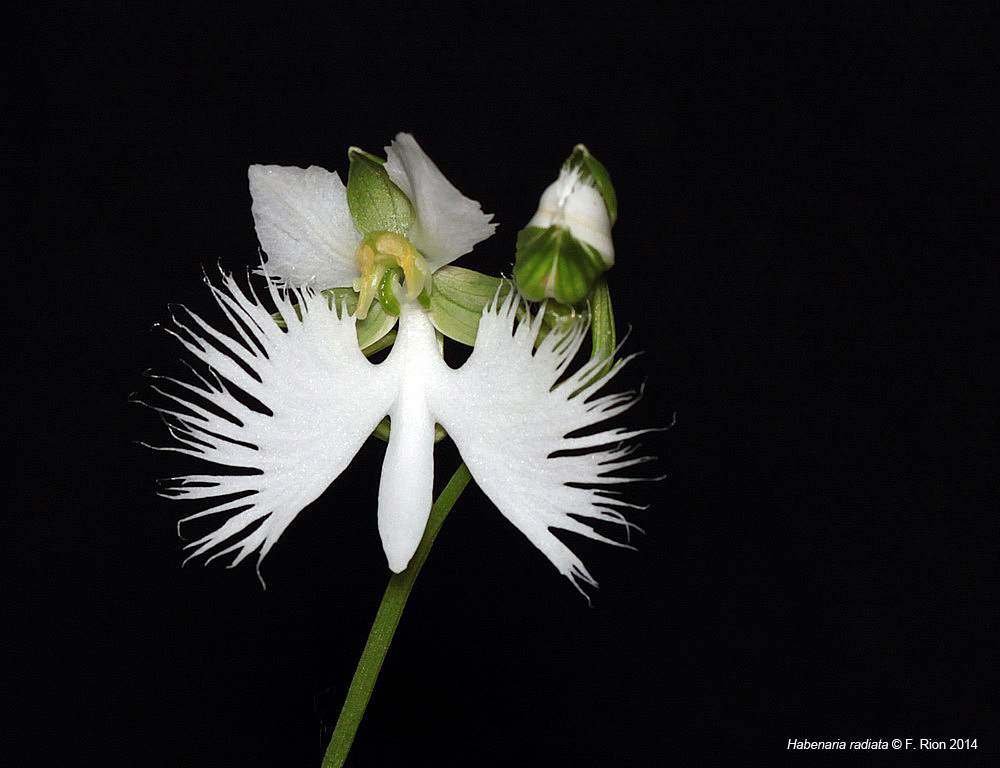
{"type": "Polygon", "coordinates": [[[253,472],[170,481],[164,495],[208,502],[185,520],[230,515],[188,545],[192,557],[235,553],[236,565],[256,551],[259,564],[388,414],[378,525],[393,571],[406,567],[430,511],[437,422],[503,515],[578,589],[583,582],[596,585],[552,529],[619,544],[587,521],[631,526],[620,509],[633,505],[611,486],[634,479],[615,473],[645,460],[633,456],[626,441],[646,430],[567,437],[617,416],[635,400],[634,393],[596,394],[621,366],[593,380],[596,365],[586,365],[556,386],[584,327],[550,333],[536,348],[540,317],[518,322],[522,305],[511,292],[484,310],[471,356],[452,370],[426,312],[404,302],[396,343],[374,365],[358,349],[354,318],[343,310],[338,315],[325,296],[273,285],[267,290],[285,330],[253,292],[224,276],[212,291],[231,323],[228,333],[196,316],[177,321],[173,331],[210,373],[159,389],[180,406],[159,409],[177,440],[164,450],[253,472]],[[234,394],[234,387],[263,409],[234,394]]]}

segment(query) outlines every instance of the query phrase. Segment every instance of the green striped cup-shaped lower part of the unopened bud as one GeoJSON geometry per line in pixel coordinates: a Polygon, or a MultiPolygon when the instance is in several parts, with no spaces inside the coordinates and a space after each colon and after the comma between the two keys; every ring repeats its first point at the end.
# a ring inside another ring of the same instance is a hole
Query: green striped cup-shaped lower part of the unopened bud
{"type": "Polygon", "coordinates": [[[517,234],[514,281],[531,301],[554,298],[561,304],[586,299],[607,269],[600,252],[568,229],[525,227],[517,234]]]}

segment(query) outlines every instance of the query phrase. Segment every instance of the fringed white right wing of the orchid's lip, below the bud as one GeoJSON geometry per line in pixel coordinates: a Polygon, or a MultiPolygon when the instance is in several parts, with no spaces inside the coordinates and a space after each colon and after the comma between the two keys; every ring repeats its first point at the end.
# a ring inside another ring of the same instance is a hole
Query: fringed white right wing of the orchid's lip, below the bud
{"type": "Polygon", "coordinates": [[[599,362],[554,386],[580,348],[586,326],[550,333],[535,349],[541,315],[515,323],[519,301],[512,292],[486,308],[471,356],[431,393],[431,410],[503,515],[577,589],[581,583],[596,586],[550,529],[627,546],[584,521],[616,523],[626,534],[635,527],[618,511],[633,505],[618,501],[606,486],[638,479],[612,473],[645,461],[630,455],[626,441],[647,430],[590,430],[568,437],[622,413],[636,396],[597,396],[621,370],[616,366],[595,380],[599,362]]]}

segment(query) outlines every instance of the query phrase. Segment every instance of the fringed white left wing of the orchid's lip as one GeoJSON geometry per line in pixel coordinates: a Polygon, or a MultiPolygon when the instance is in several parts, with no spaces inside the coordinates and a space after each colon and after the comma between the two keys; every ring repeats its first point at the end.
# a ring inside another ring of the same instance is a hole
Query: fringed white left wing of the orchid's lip
{"type": "Polygon", "coordinates": [[[361,353],[354,318],[344,308],[338,317],[324,296],[269,286],[283,330],[231,276],[212,291],[232,328],[227,335],[193,314],[175,319],[171,332],[210,374],[196,373],[194,383],[166,380],[156,389],[170,405],[158,410],[178,442],[167,450],[237,474],[174,478],[161,493],[209,502],[182,522],[234,513],[188,548],[192,557],[235,552],[236,565],[258,550],[263,559],[340,475],[389,411],[398,385],[361,353]]]}

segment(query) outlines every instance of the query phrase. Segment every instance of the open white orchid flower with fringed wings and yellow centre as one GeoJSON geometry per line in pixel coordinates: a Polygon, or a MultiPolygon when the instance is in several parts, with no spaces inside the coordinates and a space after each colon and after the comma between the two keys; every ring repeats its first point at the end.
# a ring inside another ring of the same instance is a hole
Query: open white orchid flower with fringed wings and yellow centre
{"type": "Polygon", "coordinates": [[[176,321],[175,335],[211,374],[175,382],[180,394],[158,388],[184,409],[162,409],[179,442],[166,450],[242,472],[173,478],[163,491],[210,502],[184,521],[230,515],[187,545],[192,557],[222,547],[209,559],[235,552],[234,566],[258,552],[259,568],[289,523],[388,415],[378,529],[390,569],[406,568],[428,519],[437,423],[500,512],[578,589],[580,582],[595,585],[551,529],[617,544],[584,521],[631,525],[618,508],[632,505],[608,487],[631,478],[609,473],[642,460],[630,458],[623,443],[639,432],[579,434],[634,401],[631,393],[595,396],[620,366],[596,381],[601,360],[565,375],[586,327],[550,333],[536,348],[541,315],[518,322],[521,299],[510,291],[484,309],[467,362],[450,368],[431,316],[416,298],[420,289],[410,283],[470,251],[495,225],[412,136],[399,134],[386,153],[385,170],[411,201],[415,219],[405,237],[391,233],[376,248],[379,258],[397,258],[407,282],[395,293],[398,336],[382,363],[369,362],[359,349],[356,317],[319,293],[360,279],[363,294],[373,266],[365,251],[371,238],[355,228],[344,184],[317,167],[250,168],[254,219],[268,257],[267,293],[285,327],[231,276],[212,286],[231,328],[217,330],[195,315],[176,321]]]}

